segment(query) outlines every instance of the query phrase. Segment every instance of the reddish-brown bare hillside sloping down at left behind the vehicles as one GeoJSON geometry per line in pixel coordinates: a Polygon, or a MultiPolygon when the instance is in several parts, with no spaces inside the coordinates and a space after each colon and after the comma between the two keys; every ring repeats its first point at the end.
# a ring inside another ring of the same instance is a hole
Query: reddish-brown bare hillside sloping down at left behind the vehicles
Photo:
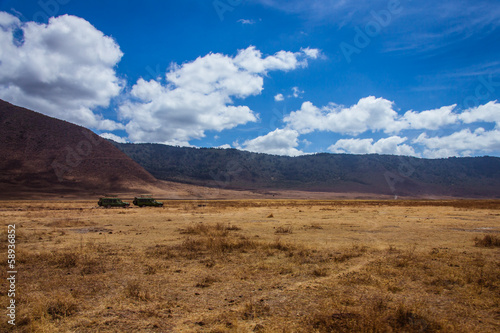
{"type": "Polygon", "coordinates": [[[0,100],[0,196],[105,194],[157,180],[90,130],[0,100]]]}

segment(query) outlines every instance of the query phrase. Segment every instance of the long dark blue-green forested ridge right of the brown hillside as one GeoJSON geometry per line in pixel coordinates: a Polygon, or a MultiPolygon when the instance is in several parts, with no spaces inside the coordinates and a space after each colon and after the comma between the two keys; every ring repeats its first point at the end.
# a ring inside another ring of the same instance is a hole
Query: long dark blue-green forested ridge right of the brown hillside
{"type": "Polygon", "coordinates": [[[236,149],[113,143],[158,179],[228,189],[500,197],[500,158],[285,157],[236,149]]]}

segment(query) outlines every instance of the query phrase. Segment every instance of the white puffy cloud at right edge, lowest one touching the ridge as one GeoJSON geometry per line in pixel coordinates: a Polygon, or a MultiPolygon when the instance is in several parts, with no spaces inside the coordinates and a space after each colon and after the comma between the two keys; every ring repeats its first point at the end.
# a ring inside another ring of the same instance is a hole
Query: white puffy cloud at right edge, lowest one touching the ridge
{"type": "Polygon", "coordinates": [[[467,128],[448,136],[432,138],[422,133],[413,142],[426,147],[424,156],[428,158],[469,156],[480,152],[500,151],[500,130],[486,131],[478,128],[471,132],[467,128]]]}

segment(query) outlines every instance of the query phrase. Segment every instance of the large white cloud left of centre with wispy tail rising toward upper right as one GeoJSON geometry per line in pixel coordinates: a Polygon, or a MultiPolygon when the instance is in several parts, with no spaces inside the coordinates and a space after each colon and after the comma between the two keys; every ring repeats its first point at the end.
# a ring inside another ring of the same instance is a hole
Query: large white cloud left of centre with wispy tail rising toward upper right
{"type": "Polygon", "coordinates": [[[257,121],[258,115],[249,107],[233,105],[233,98],[260,94],[268,71],[306,65],[303,52],[280,51],[263,57],[251,46],[235,57],[211,53],[172,66],[165,85],[138,80],[119,114],[128,120],[126,131],[133,142],[189,145],[189,140],[204,137],[205,131],[257,121]]]}

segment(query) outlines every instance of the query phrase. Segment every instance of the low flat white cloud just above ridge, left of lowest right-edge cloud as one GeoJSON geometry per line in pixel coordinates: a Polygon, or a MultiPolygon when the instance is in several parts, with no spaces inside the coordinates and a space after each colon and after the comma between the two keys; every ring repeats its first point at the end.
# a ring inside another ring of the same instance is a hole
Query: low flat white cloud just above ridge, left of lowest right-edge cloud
{"type": "Polygon", "coordinates": [[[328,150],[332,153],[417,156],[413,147],[403,144],[407,140],[399,136],[383,138],[375,143],[373,139],[341,139],[328,147],[328,150]]]}

